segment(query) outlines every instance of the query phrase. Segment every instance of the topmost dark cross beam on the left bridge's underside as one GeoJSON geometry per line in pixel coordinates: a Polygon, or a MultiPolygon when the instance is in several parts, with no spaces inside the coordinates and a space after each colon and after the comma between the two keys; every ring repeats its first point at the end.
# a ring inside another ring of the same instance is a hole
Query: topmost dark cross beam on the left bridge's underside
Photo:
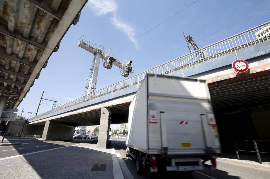
{"type": "Polygon", "coordinates": [[[54,17],[57,20],[60,20],[63,16],[62,11],[55,11],[51,8],[51,4],[48,1],[38,1],[38,0],[29,0],[34,6],[42,11],[50,14],[50,16],[54,17]]]}

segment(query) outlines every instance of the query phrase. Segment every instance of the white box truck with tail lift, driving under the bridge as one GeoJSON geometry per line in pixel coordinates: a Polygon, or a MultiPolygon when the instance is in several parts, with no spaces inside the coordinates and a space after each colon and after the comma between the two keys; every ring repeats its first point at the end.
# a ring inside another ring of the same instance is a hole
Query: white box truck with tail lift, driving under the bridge
{"type": "Polygon", "coordinates": [[[130,103],[128,126],[126,155],[138,174],[215,169],[221,155],[204,80],[147,74],[130,103]]]}

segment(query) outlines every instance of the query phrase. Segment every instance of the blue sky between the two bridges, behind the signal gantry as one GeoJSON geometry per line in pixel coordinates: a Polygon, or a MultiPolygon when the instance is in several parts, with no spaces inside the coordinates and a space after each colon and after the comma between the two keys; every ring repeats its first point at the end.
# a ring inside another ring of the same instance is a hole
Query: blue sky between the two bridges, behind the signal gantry
{"type": "MultiPolygon", "coordinates": [[[[47,67],[18,106],[19,114],[22,108],[35,112],[43,90],[46,92],[44,98],[54,99],[58,104],[83,95],[93,58],[90,52],[77,46],[82,34],[115,52],[195,1],[89,0],[79,23],[70,27],[59,50],[52,54],[47,67]]],[[[201,48],[269,21],[269,2],[199,0],[117,54],[133,61],[134,73],[130,75],[133,76],[189,53],[189,49],[183,47],[186,41],[182,31],[193,36],[201,48]],[[266,12],[259,14],[263,11],[266,12]]],[[[108,70],[101,64],[97,90],[123,79],[116,66],[108,70]]],[[[40,106],[38,114],[51,108],[52,102],[45,103],[40,106]]],[[[30,114],[24,113],[23,116],[30,117],[30,114]]]]}

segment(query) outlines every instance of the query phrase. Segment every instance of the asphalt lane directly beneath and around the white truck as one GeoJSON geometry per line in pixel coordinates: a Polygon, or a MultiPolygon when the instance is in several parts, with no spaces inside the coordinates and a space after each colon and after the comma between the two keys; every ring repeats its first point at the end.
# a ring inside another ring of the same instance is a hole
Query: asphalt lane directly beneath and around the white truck
{"type": "Polygon", "coordinates": [[[149,179],[149,178],[170,178],[179,176],[179,178],[194,179],[269,179],[270,171],[255,169],[242,165],[218,161],[217,170],[194,171],[191,175],[181,174],[180,172],[166,172],[163,175],[159,173],[149,173],[146,176],[139,176],[136,173],[135,161],[125,156],[125,138],[112,138],[115,149],[121,155],[119,163],[125,179],[149,179]],[[126,166],[126,167],[125,167],[126,166]],[[125,170],[126,168],[126,170],[125,170]]]}

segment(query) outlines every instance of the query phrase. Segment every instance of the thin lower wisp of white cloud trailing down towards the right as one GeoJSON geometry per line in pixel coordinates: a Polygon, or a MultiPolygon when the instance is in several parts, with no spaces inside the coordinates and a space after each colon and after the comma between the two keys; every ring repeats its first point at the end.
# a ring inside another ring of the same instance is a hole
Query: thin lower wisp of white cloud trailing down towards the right
{"type": "MultiPolygon", "coordinates": [[[[135,40],[135,28],[133,26],[119,19],[116,14],[113,14],[113,17],[111,19],[113,20],[113,25],[115,25],[119,30],[124,32],[130,39],[130,41],[135,40]]],[[[133,44],[136,49],[139,47],[138,41],[134,41],[133,44]]]]}

